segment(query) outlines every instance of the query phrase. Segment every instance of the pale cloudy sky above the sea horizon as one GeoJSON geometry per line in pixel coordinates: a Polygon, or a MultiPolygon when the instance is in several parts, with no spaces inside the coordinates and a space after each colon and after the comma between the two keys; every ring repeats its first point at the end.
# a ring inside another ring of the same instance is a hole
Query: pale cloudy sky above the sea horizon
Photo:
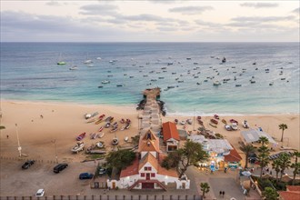
{"type": "Polygon", "coordinates": [[[299,1],[1,0],[1,42],[299,42],[299,1]]]}

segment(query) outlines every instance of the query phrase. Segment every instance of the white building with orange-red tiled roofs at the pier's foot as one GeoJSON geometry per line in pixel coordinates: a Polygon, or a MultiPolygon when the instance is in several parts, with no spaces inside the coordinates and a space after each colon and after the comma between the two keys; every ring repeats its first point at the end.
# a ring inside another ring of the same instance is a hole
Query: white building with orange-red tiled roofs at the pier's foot
{"type": "Polygon", "coordinates": [[[179,179],[174,169],[167,170],[160,165],[165,155],[159,149],[159,138],[151,130],[140,137],[133,165],[121,171],[119,179],[107,180],[110,188],[164,189],[174,186],[177,189],[189,189],[190,181],[185,177],[179,179]]]}

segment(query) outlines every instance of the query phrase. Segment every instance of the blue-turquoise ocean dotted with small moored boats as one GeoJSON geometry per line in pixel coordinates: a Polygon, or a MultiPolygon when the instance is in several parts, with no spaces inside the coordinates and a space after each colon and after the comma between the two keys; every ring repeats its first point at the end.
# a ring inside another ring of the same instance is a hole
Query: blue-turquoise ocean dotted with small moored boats
{"type": "Polygon", "coordinates": [[[299,43],[1,43],[0,92],[136,105],[145,88],[159,86],[172,115],[299,114],[299,54],[299,43]]]}

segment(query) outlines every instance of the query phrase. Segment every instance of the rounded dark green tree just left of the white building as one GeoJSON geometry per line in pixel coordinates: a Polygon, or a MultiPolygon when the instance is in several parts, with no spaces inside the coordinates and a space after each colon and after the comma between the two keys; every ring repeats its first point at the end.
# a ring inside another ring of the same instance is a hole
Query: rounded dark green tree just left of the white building
{"type": "Polygon", "coordinates": [[[127,149],[110,152],[106,157],[108,167],[115,167],[118,172],[131,165],[135,160],[135,152],[127,149]]]}

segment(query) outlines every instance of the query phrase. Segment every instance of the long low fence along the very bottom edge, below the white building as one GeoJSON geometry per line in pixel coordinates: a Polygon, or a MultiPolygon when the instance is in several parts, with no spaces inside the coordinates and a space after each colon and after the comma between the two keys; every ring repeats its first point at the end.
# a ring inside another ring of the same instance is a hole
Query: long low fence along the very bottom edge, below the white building
{"type": "Polygon", "coordinates": [[[53,196],[43,196],[43,197],[0,196],[0,200],[202,200],[202,196],[200,195],[53,195],[53,196]]]}

